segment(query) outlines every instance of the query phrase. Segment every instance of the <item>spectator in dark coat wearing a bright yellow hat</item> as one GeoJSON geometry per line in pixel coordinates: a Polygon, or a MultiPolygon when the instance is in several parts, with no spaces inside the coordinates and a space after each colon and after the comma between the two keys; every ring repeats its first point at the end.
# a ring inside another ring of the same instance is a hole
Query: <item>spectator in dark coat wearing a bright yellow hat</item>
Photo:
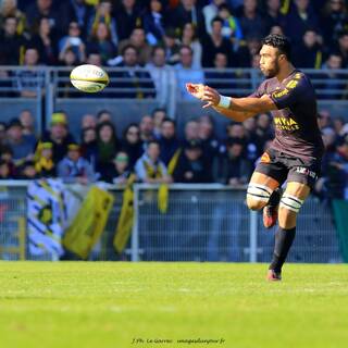
{"type": "Polygon", "coordinates": [[[75,140],[69,133],[65,113],[55,112],[52,114],[50,129],[44,133],[40,142],[53,144],[53,162],[55,164],[66,156],[69,144],[74,144],[75,140]]]}

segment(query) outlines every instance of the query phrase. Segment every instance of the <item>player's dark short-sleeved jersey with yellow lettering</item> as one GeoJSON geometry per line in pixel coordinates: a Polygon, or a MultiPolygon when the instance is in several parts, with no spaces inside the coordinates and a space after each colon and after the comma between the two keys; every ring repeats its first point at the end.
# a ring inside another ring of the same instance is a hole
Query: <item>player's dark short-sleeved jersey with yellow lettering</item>
{"type": "Polygon", "coordinates": [[[264,80],[252,97],[269,95],[278,110],[272,111],[275,138],[272,148],[298,158],[321,159],[324,145],[316,123],[314,88],[309,78],[295,70],[282,83],[264,80]]]}

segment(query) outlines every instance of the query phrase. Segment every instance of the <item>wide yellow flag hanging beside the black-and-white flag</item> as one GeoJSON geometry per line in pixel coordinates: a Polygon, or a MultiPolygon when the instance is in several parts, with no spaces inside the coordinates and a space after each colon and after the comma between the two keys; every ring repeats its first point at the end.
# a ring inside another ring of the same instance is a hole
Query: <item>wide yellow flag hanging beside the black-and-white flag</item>
{"type": "Polygon", "coordinates": [[[113,196],[108,191],[91,187],[72,225],[65,232],[64,247],[87,259],[104,231],[113,201],[113,196]]]}

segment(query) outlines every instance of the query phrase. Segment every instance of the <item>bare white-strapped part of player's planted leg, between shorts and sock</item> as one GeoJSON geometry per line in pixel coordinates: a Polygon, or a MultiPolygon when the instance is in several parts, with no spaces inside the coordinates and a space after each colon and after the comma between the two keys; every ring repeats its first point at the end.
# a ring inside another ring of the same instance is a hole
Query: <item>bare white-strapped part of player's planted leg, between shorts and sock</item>
{"type": "Polygon", "coordinates": [[[311,188],[306,184],[287,183],[278,210],[279,227],[288,229],[296,226],[297,214],[310,191],[311,188]]]}

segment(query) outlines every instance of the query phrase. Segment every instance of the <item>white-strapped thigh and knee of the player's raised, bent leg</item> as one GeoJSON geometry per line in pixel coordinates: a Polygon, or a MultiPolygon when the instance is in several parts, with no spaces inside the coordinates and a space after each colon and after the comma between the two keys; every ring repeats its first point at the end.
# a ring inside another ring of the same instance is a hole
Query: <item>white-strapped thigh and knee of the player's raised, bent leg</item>
{"type": "Polygon", "coordinates": [[[249,209],[262,209],[278,186],[279,183],[273,177],[260,172],[253,172],[247,191],[247,204],[249,209]]]}

